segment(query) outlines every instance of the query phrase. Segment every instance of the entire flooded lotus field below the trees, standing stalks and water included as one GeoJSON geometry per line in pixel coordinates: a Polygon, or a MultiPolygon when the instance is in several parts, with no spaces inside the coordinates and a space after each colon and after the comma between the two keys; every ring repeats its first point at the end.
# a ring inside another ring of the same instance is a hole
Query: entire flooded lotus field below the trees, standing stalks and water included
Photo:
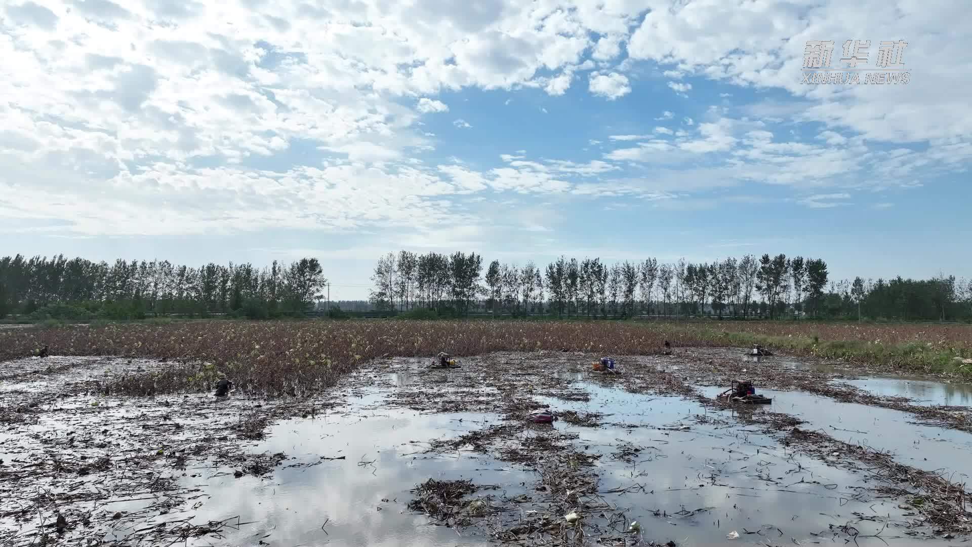
{"type": "Polygon", "coordinates": [[[912,346],[951,356],[967,340],[936,329],[959,327],[922,326],[926,339],[902,334],[911,327],[818,327],[212,321],[3,331],[0,544],[972,537],[962,486],[972,419],[964,399],[945,396],[972,387],[856,378],[862,364],[887,364],[873,353],[813,356],[840,329],[861,338],[829,344],[897,332],[900,344],[883,346],[895,358],[912,346]],[[673,355],[662,354],[666,340],[673,355]],[[777,355],[753,358],[733,347],[741,341],[772,341],[777,355]],[[45,345],[52,356],[30,356],[45,345]],[[460,367],[429,368],[440,350],[460,367]],[[606,354],[623,374],[591,371],[606,354]],[[225,399],[212,396],[219,373],[235,387],[225,399]],[[713,398],[740,377],[773,404],[713,398]],[[543,408],[559,419],[527,419],[543,408]]]}

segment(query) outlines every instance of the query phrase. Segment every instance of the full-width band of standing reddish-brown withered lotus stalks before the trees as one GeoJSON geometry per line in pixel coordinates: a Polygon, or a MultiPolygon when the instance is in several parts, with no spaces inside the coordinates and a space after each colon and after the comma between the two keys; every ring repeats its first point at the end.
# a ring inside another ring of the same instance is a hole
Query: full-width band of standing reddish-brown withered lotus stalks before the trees
{"type": "Polygon", "coordinates": [[[960,358],[972,354],[972,328],[966,325],[215,320],[8,329],[0,331],[0,360],[28,356],[48,345],[55,355],[116,355],[169,363],[162,371],[125,377],[113,387],[121,392],[206,390],[223,372],[244,391],[296,395],[327,388],[341,374],[380,356],[540,349],[648,355],[660,352],[666,340],[674,346],[760,343],[884,367],[888,372],[964,375],[960,358]]]}

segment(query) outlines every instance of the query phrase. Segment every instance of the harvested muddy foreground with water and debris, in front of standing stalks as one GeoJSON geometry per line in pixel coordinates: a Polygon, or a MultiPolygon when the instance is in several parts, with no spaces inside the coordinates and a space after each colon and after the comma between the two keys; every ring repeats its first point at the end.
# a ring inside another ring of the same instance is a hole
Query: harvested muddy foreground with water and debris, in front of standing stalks
{"type": "Polygon", "coordinates": [[[968,537],[967,433],[856,402],[885,395],[844,387],[832,370],[679,351],[619,357],[621,375],[593,373],[598,356],[569,352],[460,357],[448,370],[378,359],[327,397],[270,400],[106,394],[124,375],[166,366],[152,361],[0,363],[0,544],[968,537]],[[740,375],[772,387],[773,405],[712,398],[740,375]],[[829,394],[801,387],[811,383],[829,394]],[[558,419],[528,419],[543,409],[558,419]]]}

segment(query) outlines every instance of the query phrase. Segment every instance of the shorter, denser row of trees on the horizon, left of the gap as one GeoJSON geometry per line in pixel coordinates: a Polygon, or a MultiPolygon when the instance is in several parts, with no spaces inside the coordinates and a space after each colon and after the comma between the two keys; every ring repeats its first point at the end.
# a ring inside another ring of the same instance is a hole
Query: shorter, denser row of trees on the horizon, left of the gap
{"type": "Polygon", "coordinates": [[[137,319],[169,313],[271,317],[317,301],[327,283],[316,258],[269,267],[169,261],[93,262],[22,255],[0,259],[0,317],[137,319]]]}

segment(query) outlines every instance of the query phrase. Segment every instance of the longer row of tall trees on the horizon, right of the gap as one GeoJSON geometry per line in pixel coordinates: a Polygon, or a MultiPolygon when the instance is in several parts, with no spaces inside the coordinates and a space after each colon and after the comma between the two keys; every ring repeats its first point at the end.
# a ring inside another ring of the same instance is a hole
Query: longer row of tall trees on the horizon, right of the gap
{"type": "Polygon", "coordinates": [[[955,276],[833,281],[822,259],[784,254],[702,264],[562,256],[545,266],[516,266],[494,260],[485,274],[482,264],[476,253],[388,253],[371,276],[371,303],[379,310],[460,315],[972,318],[972,282],[955,276]]]}

